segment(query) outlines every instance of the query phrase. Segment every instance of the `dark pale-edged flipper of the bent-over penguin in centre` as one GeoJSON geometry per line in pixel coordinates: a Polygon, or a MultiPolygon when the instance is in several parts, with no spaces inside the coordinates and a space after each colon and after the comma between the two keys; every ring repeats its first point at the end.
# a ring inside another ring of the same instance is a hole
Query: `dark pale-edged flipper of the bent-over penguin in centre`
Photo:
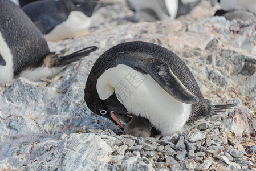
{"type": "Polygon", "coordinates": [[[194,104],[199,101],[173,74],[171,68],[164,61],[156,58],[148,58],[137,64],[139,68],[149,74],[166,92],[176,100],[186,104],[194,104]]]}

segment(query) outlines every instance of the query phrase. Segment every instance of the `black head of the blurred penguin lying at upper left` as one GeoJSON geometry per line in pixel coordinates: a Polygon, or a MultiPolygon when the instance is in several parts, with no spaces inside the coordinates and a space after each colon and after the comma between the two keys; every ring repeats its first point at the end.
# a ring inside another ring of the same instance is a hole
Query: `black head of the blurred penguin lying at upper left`
{"type": "Polygon", "coordinates": [[[70,11],[82,11],[88,17],[92,16],[98,2],[99,0],[65,0],[70,11]]]}

